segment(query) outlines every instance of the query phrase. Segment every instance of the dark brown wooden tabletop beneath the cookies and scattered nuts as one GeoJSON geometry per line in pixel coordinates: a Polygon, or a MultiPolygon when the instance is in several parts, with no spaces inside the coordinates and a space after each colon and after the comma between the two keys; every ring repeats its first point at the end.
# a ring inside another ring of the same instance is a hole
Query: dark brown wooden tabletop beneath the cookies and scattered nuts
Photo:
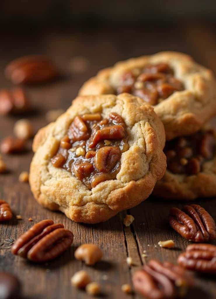
{"type": "MultiPolygon", "coordinates": [[[[11,59],[26,54],[47,54],[63,70],[62,79],[43,86],[27,88],[35,107],[28,118],[35,129],[46,124],[45,112],[49,109],[70,106],[82,85],[100,68],[114,64],[118,60],[157,51],[174,50],[191,54],[198,62],[216,71],[216,27],[214,25],[179,25],[160,28],[146,26],[143,29],[113,29],[65,33],[1,33],[0,47],[0,87],[11,87],[3,75],[4,66],[11,59]],[[74,73],[68,68],[74,56],[84,56],[90,61],[85,73],[74,73]]],[[[0,138],[12,134],[14,122],[18,118],[0,118],[0,138]]],[[[29,148],[30,148],[29,144],[29,148]]],[[[149,198],[139,206],[119,213],[105,223],[86,225],[75,223],[62,213],[42,208],[33,198],[27,183],[19,183],[22,170],[28,170],[32,152],[22,155],[4,156],[10,169],[0,175],[0,198],[10,203],[14,215],[20,214],[22,220],[14,217],[9,223],[0,225],[0,269],[18,275],[23,283],[25,298],[57,299],[87,298],[84,291],[71,286],[71,276],[85,269],[92,279],[102,285],[103,295],[99,298],[140,298],[139,295],[125,295],[122,284],[131,284],[134,269],[145,264],[150,258],[169,260],[176,263],[181,251],[189,244],[173,231],[167,223],[167,215],[172,206],[182,207],[183,202],[166,202],[149,198]],[[131,227],[124,227],[122,220],[126,213],[135,217],[131,227]],[[28,218],[32,217],[33,222],[28,218]],[[20,234],[42,219],[62,222],[75,238],[73,246],[60,258],[34,265],[10,253],[7,239],[16,239],[20,234]],[[174,239],[176,248],[160,248],[160,240],[174,239]],[[98,244],[104,258],[95,267],[87,267],[74,259],[74,250],[85,242],[98,244]],[[146,250],[147,257],[143,257],[146,250]],[[132,257],[136,266],[129,268],[127,257],[132,257]]],[[[216,219],[215,199],[196,201],[216,219]]],[[[187,298],[216,298],[215,279],[206,275],[198,276],[197,288],[187,298]]]]}

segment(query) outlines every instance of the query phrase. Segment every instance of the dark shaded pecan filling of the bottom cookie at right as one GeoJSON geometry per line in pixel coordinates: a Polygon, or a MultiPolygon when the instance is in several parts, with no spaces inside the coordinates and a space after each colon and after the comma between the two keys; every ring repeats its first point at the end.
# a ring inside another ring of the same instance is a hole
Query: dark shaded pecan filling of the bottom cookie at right
{"type": "Polygon", "coordinates": [[[167,169],[172,173],[193,175],[215,154],[215,135],[209,130],[166,142],[167,169]]]}

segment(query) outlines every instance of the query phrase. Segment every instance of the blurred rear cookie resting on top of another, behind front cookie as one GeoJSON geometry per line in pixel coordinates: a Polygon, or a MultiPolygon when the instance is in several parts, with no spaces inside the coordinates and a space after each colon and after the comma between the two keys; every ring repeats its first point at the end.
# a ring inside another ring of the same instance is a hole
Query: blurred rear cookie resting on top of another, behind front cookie
{"type": "Polygon", "coordinates": [[[88,80],[79,94],[122,92],[154,106],[167,140],[198,131],[216,113],[212,72],[182,53],[161,52],[118,62],[88,80]]]}

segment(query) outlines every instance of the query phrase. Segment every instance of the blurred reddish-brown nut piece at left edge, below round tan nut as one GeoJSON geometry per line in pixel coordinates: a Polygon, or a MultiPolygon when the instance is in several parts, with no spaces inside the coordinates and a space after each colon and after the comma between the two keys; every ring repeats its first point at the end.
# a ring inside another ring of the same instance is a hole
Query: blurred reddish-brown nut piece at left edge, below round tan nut
{"type": "Polygon", "coordinates": [[[1,152],[4,154],[23,152],[25,149],[24,139],[8,136],[1,141],[1,152]]]}

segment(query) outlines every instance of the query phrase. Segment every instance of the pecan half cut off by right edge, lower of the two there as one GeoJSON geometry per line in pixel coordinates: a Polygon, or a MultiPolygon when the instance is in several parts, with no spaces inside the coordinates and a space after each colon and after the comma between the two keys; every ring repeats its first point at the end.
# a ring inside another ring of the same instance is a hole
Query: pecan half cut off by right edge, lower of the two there
{"type": "Polygon", "coordinates": [[[216,274],[216,246],[211,244],[192,244],[178,257],[182,267],[198,272],[216,274]]]}

